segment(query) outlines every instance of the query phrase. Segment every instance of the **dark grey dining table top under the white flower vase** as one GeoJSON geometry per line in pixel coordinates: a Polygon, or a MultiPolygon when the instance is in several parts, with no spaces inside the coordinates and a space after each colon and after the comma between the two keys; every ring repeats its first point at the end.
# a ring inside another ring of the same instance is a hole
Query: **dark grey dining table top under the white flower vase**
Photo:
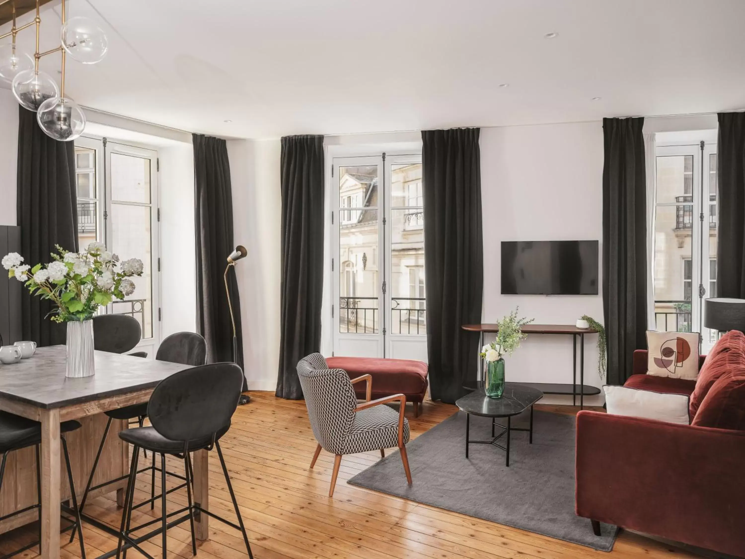
{"type": "Polygon", "coordinates": [[[39,347],[30,359],[0,364],[0,397],[26,402],[39,408],[62,408],[104,397],[154,388],[180,370],[180,363],[154,361],[95,352],[95,375],[84,379],[65,377],[66,347],[39,347]]]}

